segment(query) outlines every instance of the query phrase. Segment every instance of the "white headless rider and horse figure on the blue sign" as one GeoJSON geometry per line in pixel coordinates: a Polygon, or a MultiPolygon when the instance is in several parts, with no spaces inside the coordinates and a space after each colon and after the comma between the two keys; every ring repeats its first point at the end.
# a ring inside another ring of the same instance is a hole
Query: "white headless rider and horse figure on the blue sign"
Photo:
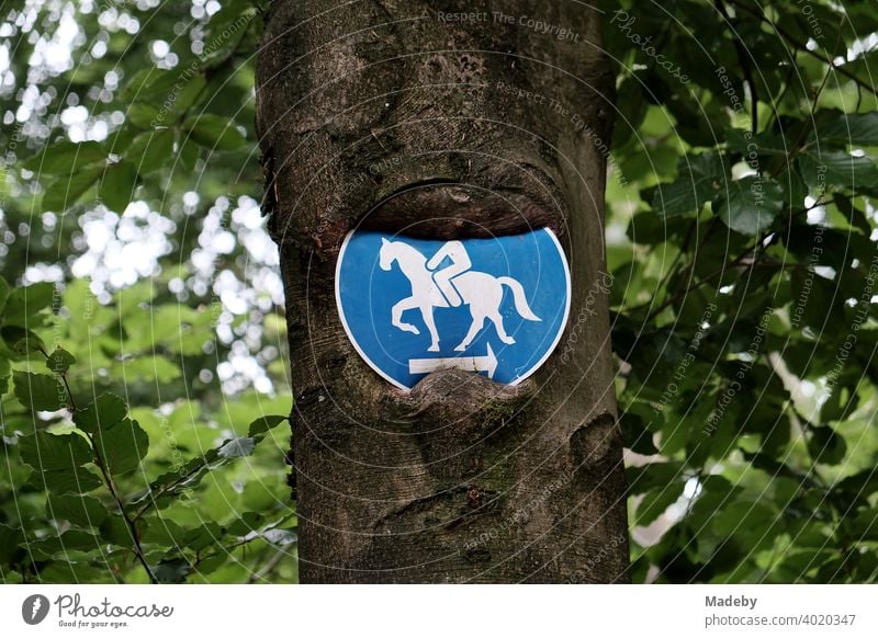
{"type": "Polygon", "coordinates": [[[470,306],[472,323],[466,337],[454,350],[463,352],[482,330],[485,320],[494,323],[497,337],[511,345],[515,339],[506,333],[500,315],[503,286],[513,292],[516,311],[529,321],[541,321],[530,309],[525,288],[513,277],[495,277],[488,273],[470,270],[472,262],[466,249],[460,241],[449,241],[427,261],[417,249],[404,241],[381,240],[379,264],[382,270],[390,271],[394,263],[412,284],[412,296],[396,303],[391,310],[393,326],[404,332],[420,334],[420,330],[412,323],[403,321],[403,312],[417,308],[424,318],[424,324],[430,333],[428,352],[439,352],[439,333],[434,321],[434,308],[455,308],[470,306]],[[446,259],[451,265],[435,271],[446,259]],[[453,282],[451,280],[454,280],[453,282]]]}

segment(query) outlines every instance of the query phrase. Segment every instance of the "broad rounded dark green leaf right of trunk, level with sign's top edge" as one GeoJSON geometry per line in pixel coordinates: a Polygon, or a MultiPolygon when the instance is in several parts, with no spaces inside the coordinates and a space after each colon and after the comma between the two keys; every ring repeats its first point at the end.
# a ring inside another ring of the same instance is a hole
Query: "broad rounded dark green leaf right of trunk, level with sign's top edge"
{"type": "Polygon", "coordinates": [[[784,207],[784,191],[773,180],[752,175],[728,186],[719,197],[719,216],[729,228],[743,235],[759,235],[784,207]]]}

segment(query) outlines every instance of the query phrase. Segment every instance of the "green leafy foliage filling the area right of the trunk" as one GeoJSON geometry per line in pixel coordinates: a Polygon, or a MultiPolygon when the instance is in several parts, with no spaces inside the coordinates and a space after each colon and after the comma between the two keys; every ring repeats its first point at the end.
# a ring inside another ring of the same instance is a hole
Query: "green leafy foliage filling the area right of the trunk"
{"type": "Polygon", "coordinates": [[[635,580],[878,574],[878,8],[843,4],[603,4],[635,580]]]}

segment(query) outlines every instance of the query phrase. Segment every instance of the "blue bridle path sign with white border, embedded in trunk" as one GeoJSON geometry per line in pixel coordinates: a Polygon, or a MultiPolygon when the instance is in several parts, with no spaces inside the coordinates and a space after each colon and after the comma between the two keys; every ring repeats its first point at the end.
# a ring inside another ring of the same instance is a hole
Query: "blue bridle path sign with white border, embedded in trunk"
{"type": "Polygon", "coordinates": [[[450,241],[354,230],[336,266],[353,346],[406,390],[448,368],[522,381],[558,345],[570,297],[564,251],[547,228],[450,241]]]}

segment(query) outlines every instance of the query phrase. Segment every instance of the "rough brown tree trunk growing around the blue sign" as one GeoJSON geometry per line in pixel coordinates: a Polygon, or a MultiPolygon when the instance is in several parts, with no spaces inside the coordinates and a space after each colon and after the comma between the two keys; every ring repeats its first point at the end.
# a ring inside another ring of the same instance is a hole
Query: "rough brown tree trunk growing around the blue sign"
{"type": "Polygon", "coordinates": [[[598,15],[567,0],[275,0],[262,44],[302,582],[624,581],[603,274],[614,79],[598,15]],[[446,371],[405,394],[354,352],[334,297],[350,229],[542,226],[566,251],[573,299],[533,377],[446,371]]]}

